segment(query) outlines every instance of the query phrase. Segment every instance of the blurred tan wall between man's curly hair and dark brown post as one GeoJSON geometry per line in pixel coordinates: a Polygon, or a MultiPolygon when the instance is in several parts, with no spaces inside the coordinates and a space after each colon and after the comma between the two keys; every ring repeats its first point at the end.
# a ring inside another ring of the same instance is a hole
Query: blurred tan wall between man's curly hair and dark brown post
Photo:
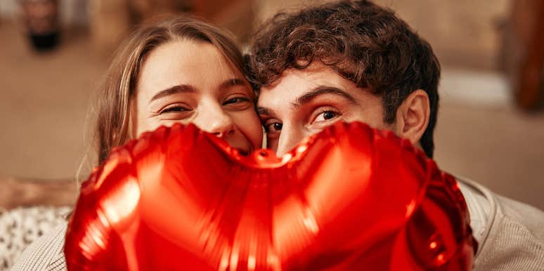
{"type": "Polygon", "coordinates": [[[443,65],[498,70],[510,0],[377,2],[427,39],[443,65]]]}

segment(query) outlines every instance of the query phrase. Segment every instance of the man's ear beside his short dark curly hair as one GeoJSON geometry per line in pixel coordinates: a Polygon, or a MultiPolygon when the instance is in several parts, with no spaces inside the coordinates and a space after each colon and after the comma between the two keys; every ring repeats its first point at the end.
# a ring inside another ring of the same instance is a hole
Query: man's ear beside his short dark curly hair
{"type": "Polygon", "coordinates": [[[419,141],[429,125],[430,114],[427,93],[421,89],[410,93],[396,110],[396,134],[407,138],[413,145],[420,146],[419,141]]]}

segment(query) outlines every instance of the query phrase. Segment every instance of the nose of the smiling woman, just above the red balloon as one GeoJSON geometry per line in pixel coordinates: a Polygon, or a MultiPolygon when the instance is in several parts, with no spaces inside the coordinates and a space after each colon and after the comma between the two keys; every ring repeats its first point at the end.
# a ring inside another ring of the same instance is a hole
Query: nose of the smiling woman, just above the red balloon
{"type": "Polygon", "coordinates": [[[219,138],[233,135],[235,131],[231,116],[226,114],[221,107],[207,107],[200,112],[194,122],[202,131],[212,133],[219,138]]]}

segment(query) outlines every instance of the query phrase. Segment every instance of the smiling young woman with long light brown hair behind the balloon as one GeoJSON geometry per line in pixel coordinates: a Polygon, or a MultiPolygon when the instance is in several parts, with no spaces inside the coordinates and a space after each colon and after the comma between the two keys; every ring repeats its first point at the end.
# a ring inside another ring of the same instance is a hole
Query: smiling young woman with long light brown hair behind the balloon
{"type": "MultiPolygon", "coordinates": [[[[98,164],[144,131],[193,123],[240,152],[261,147],[256,96],[223,30],[182,17],[143,27],[120,47],[97,104],[98,164]]],[[[66,225],[31,244],[13,270],[65,270],[66,225]]]]}

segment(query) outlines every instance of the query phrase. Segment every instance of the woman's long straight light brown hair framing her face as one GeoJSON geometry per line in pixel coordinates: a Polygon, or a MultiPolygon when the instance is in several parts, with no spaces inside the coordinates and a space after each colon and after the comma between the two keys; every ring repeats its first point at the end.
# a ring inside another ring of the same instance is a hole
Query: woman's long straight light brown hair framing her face
{"type": "Polygon", "coordinates": [[[95,131],[98,164],[108,157],[113,147],[130,139],[131,100],[136,95],[138,74],[145,56],[157,46],[180,38],[214,45],[233,67],[245,74],[244,60],[232,35],[219,27],[190,16],[180,16],[137,29],[119,47],[98,96],[95,131]]]}

